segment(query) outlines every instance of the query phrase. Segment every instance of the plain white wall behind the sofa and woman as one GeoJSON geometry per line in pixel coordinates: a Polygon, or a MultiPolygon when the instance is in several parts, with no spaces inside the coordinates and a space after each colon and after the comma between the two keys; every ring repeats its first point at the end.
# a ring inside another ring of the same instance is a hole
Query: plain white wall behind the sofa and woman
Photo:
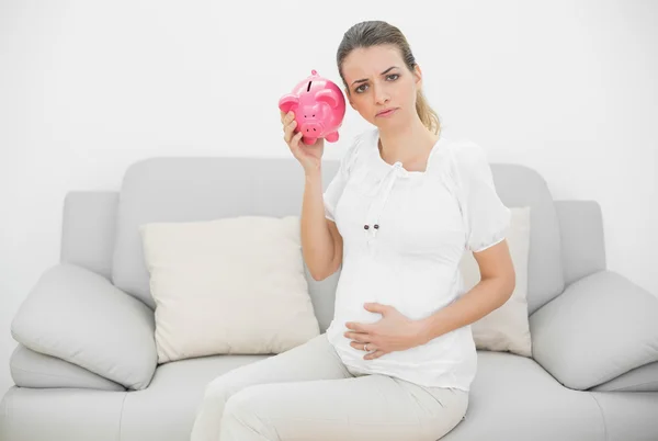
{"type": "MultiPolygon", "coordinates": [[[[446,136],[535,168],[556,199],[598,201],[610,268],[658,294],[658,3],[0,3],[0,393],[65,193],[116,190],[154,155],[288,156],[279,97],[310,69],[338,81],[361,20],[406,33],[446,136]]],[[[343,136],[363,128],[349,109],[343,136]]]]}

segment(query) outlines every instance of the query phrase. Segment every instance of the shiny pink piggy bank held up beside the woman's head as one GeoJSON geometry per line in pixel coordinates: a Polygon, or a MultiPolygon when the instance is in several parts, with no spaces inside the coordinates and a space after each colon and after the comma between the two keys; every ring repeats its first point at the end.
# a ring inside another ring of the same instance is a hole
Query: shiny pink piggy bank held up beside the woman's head
{"type": "Polygon", "coordinates": [[[279,109],[295,113],[295,133],[304,133],[304,144],[313,145],[318,138],[336,143],[345,115],[345,99],[334,82],[320,77],[316,70],[310,74],[292,93],[279,100],[279,109]]]}

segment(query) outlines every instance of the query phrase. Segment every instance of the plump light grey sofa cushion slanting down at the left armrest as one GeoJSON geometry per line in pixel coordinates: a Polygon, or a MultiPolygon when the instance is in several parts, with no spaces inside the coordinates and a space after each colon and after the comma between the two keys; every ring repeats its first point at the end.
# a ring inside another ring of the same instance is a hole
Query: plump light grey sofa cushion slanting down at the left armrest
{"type": "Polygon", "coordinates": [[[35,352],[84,368],[131,389],[157,366],[154,312],[107,279],[68,263],[47,270],[11,324],[35,352]]]}

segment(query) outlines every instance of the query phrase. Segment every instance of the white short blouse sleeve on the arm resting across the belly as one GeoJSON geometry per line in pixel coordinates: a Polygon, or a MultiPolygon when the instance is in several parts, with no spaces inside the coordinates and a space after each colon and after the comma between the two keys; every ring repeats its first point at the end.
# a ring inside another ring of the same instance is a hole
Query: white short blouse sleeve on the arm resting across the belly
{"type": "Polygon", "coordinates": [[[491,168],[479,145],[462,144],[456,158],[466,249],[484,251],[504,239],[511,212],[496,191],[491,168]]]}

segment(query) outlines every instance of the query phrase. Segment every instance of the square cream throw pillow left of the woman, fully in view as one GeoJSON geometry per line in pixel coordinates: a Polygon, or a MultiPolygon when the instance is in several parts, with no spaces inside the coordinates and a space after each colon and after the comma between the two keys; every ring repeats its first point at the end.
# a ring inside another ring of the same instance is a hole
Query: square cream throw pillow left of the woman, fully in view
{"type": "Polygon", "coordinates": [[[150,223],[140,234],[159,363],[280,353],[319,335],[298,217],[150,223]]]}

